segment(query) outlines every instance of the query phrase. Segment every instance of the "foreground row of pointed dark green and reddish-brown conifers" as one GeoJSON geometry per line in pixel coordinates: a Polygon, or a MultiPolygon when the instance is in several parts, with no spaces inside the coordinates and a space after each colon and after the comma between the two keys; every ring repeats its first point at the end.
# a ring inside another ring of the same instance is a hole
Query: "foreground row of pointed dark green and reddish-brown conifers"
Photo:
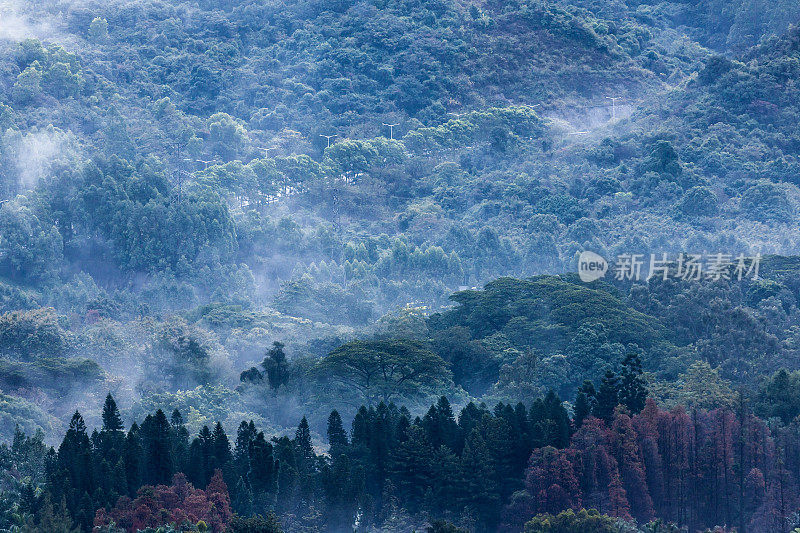
{"type": "Polygon", "coordinates": [[[554,392],[529,406],[469,403],[458,416],[445,397],[421,417],[381,403],[361,407],[349,430],[331,412],[329,448],[320,452],[305,418],[293,438],[268,437],[252,421],[235,437],[218,423],[192,438],[177,410],[169,418],[158,410],[125,431],[109,395],[99,430],[90,434],[73,416],[58,449],[47,453],[46,490],[28,507],[41,512],[45,500],[63,502],[73,522],[91,531],[99,516],[142,498],[143,487],[190,483],[214,487],[209,498],[226,492],[240,516],[306,517],[311,509],[314,525],[330,531],[398,514],[518,531],[536,514],[570,508],[693,529],[788,524],[800,503],[795,426],[770,430],[744,402],[686,412],[663,411],[646,398],[631,357],[597,390],[584,383],[572,413],[554,392]]]}

